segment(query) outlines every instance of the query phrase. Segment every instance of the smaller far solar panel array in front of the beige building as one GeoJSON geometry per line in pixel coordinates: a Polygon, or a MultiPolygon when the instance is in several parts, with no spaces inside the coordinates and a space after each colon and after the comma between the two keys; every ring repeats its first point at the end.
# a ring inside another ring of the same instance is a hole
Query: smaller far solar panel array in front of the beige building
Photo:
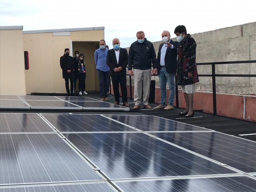
{"type": "Polygon", "coordinates": [[[0,109],[60,109],[60,110],[115,110],[127,107],[88,97],[0,95],[0,109]]]}

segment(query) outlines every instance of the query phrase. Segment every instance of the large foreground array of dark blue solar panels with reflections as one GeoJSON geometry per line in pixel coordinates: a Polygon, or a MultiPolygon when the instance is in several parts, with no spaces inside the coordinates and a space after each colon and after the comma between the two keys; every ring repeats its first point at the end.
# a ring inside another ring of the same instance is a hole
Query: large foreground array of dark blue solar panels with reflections
{"type": "Polygon", "coordinates": [[[0,118],[0,192],[256,190],[256,142],[246,139],[156,116],[0,118]]]}

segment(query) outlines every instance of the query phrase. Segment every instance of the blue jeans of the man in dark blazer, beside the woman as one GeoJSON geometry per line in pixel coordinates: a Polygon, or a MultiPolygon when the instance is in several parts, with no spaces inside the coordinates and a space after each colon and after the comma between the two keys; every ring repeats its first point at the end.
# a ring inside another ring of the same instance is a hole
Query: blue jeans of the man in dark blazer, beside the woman
{"type": "Polygon", "coordinates": [[[160,83],[161,104],[165,105],[166,82],[167,82],[170,89],[168,104],[173,105],[173,100],[175,96],[175,81],[174,81],[175,73],[167,73],[165,68],[160,67],[158,71],[158,78],[160,83]]]}

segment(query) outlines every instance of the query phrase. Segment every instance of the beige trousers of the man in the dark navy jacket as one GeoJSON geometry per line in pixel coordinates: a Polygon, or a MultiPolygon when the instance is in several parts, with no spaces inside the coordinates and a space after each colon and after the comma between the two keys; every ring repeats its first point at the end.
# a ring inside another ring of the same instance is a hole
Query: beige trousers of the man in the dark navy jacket
{"type": "Polygon", "coordinates": [[[151,69],[138,70],[134,69],[134,104],[140,105],[141,94],[142,94],[142,83],[143,83],[143,103],[148,105],[148,98],[150,93],[150,82],[151,82],[151,69]]]}

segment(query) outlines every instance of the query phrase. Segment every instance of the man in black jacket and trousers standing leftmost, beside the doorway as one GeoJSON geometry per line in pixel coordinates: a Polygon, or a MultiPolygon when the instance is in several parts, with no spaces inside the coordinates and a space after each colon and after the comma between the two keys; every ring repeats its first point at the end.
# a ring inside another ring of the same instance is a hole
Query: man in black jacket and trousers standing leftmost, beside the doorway
{"type": "Polygon", "coordinates": [[[74,94],[74,60],[69,56],[69,49],[64,50],[64,55],[60,57],[60,67],[62,68],[62,78],[65,79],[66,93],[74,94]],[[70,80],[70,90],[68,85],[70,80]]]}

